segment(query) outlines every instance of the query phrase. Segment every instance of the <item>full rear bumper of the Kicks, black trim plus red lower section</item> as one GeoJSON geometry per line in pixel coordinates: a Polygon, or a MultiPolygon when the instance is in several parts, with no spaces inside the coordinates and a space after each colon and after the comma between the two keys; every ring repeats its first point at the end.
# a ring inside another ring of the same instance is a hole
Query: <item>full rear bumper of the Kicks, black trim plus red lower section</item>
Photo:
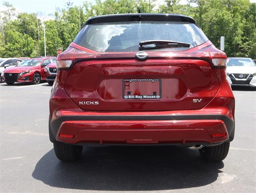
{"type": "Polygon", "coordinates": [[[64,115],[52,121],[50,127],[57,141],[69,144],[207,146],[227,141],[234,121],[224,114],[64,115]],[[226,136],[212,137],[221,133],[226,136]]]}

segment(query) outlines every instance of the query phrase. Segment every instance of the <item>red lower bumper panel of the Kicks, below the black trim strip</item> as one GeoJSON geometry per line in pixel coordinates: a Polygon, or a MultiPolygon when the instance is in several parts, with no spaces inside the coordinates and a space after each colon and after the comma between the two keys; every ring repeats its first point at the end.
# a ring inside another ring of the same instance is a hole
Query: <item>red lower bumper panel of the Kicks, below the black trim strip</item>
{"type": "Polygon", "coordinates": [[[228,140],[228,136],[212,138],[216,131],[227,133],[222,120],[168,121],[65,121],[58,130],[57,140],[67,143],[157,144],[208,142],[228,140]],[[61,138],[59,134],[74,135],[61,138]]]}

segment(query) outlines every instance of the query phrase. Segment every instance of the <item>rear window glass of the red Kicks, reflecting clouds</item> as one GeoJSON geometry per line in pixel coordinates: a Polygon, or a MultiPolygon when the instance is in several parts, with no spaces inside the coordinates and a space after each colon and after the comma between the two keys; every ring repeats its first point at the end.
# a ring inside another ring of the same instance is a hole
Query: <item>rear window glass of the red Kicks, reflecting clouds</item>
{"type": "MultiPolygon", "coordinates": [[[[208,39],[195,24],[186,22],[110,22],[84,26],[74,43],[99,52],[126,52],[138,51],[139,42],[147,40],[179,41],[189,43],[192,48],[208,39]]],[[[162,50],[184,49],[189,47],[162,50]]]]}

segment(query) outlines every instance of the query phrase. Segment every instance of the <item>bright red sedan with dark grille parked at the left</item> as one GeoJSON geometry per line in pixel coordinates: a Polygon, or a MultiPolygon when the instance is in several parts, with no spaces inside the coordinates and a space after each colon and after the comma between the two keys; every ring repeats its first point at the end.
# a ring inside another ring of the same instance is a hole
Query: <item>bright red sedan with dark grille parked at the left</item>
{"type": "Polygon", "coordinates": [[[25,59],[18,65],[4,70],[6,84],[13,85],[15,82],[39,84],[45,80],[45,67],[56,61],[56,57],[35,57],[25,59]]]}

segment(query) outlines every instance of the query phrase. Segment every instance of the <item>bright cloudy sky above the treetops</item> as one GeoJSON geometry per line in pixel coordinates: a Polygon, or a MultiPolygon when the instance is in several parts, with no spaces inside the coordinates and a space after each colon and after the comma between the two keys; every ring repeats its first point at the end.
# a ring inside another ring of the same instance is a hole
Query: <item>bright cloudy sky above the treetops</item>
{"type": "MultiPolygon", "coordinates": [[[[7,1],[12,4],[18,12],[42,12],[42,15],[48,16],[55,11],[56,7],[64,8],[67,0],[0,0],[0,10],[3,10],[3,2],[7,1]]],[[[73,6],[80,6],[84,0],[70,0],[73,2],[73,6]]],[[[87,0],[94,3],[95,0],[87,0]]],[[[162,4],[164,0],[158,0],[162,4]]],[[[256,0],[250,0],[250,2],[256,2],[256,0]]],[[[180,0],[181,4],[185,4],[186,0],[180,0]]]]}

